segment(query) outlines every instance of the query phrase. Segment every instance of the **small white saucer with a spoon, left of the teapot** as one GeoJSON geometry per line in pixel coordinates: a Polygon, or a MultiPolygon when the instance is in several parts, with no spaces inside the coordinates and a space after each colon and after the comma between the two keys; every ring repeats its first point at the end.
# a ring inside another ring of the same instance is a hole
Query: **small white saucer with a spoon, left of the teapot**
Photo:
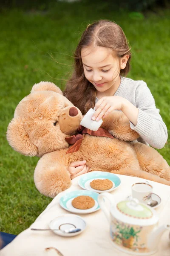
{"type": "Polygon", "coordinates": [[[82,231],[85,230],[86,223],[85,221],[79,217],[78,215],[74,214],[64,214],[57,218],[54,218],[49,223],[49,228],[57,235],[59,236],[77,236],[82,231]],[[76,233],[64,233],[62,231],[68,230],[70,228],[79,228],[80,231],[76,233]],[[59,229],[59,230],[53,230],[53,229],[59,229]],[[62,230],[62,231],[60,231],[62,230]]]}

